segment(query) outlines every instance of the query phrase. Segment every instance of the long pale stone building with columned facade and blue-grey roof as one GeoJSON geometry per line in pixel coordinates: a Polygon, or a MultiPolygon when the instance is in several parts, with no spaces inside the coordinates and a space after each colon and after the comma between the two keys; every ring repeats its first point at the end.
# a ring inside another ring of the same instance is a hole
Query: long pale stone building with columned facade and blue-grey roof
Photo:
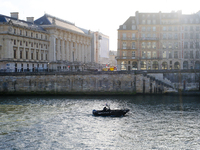
{"type": "MultiPolygon", "coordinates": [[[[69,71],[101,63],[90,30],[45,14],[20,20],[18,12],[0,15],[0,71],[69,71]],[[85,30],[86,31],[86,30],[85,30]]],[[[109,41],[108,41],[109,42],[109,41]]],[[[108,50],[109,51],[109,50],[108,50]]],[[[98,64],[98,65],[97,65],[98,64]]]]}

